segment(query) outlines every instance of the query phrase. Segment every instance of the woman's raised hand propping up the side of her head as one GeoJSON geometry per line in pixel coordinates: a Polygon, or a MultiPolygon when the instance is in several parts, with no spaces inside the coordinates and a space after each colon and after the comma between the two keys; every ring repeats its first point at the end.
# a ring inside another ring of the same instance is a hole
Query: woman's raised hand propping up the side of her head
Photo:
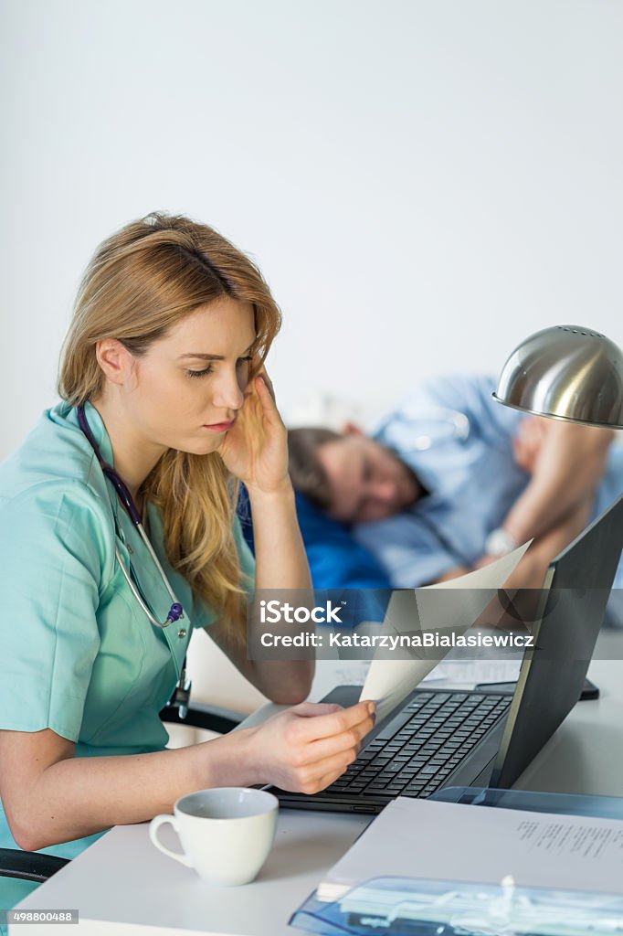
{"type": "Polygon", "coordinates": [[[245,390],[244,403],[218,451],[229,471],[250,490],[289,487],[287,431],[262,368],[245,390]]]}

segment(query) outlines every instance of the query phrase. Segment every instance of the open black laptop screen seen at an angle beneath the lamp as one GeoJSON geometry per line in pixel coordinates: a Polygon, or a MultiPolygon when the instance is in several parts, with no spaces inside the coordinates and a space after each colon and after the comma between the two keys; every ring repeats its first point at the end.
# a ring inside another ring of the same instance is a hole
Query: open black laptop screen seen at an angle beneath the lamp
{"type": "Polygon", "coordinates": [[[623,496],[550,563],[489,786],[511,786],[579,699],[622,546],[623,496]]]}

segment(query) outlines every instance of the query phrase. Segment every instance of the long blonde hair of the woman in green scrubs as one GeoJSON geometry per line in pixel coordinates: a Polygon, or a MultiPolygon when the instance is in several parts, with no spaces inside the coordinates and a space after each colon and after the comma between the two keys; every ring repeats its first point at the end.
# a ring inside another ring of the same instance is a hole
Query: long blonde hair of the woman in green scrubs
{"type": "MultiPolygon", "coordinates": [[[[61,397],[79,406],[100,394],[97,342],[116,338],[140,357],[185,315],[223,297],[253,303],[254,359],[263,361],[281,314],[248,257],[182,215],[154,212],[122,227],[100,244],[80,284],[63,345],[61,397]]],[[[238,483],[220,455],[168,449],[140,493],[160,510],[171,566],[222,616],[226,633],[241,639],[245,583],[232,531],[238,483]]]]}

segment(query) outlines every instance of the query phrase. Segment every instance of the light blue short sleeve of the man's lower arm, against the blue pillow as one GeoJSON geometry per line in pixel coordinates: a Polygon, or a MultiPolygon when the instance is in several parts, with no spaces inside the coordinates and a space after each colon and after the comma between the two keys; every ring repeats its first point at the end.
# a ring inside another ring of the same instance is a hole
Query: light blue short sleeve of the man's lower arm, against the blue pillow
{"type": "Polygon", "coordinates": [[[419,588],[456,568],[456,556],[411,513],[357,524],[355,536],[389,570],[393,588],[419,588]]]}

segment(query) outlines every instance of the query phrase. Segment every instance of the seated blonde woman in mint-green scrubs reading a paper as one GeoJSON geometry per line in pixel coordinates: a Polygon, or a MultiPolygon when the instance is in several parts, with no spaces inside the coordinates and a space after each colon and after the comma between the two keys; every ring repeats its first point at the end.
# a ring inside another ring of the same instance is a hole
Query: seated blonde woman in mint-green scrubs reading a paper
{"type": "MultiPolygon", "coordinates": [[[[246,659],[254,579],[259,589],[310,587],[286,432],[263,366],[279,326],[254,265],[185,217],[148,216],[95,254],[65,341],[62,402],[0,466],[10,595],[0,847],[75,856],[109,826],[149,820],[191,790],[272,782],[313,792],[354,760],[372,703],[301,704],[309,661],[246,659]],[[239,480],[255,570],[235,515],[239,480]],[[193,627],[207,627],[261,692],[295,708],[166,750],[158,711],[193,627]]],[[[5,906],[23,895],[12,886],[5,906]]]]}

